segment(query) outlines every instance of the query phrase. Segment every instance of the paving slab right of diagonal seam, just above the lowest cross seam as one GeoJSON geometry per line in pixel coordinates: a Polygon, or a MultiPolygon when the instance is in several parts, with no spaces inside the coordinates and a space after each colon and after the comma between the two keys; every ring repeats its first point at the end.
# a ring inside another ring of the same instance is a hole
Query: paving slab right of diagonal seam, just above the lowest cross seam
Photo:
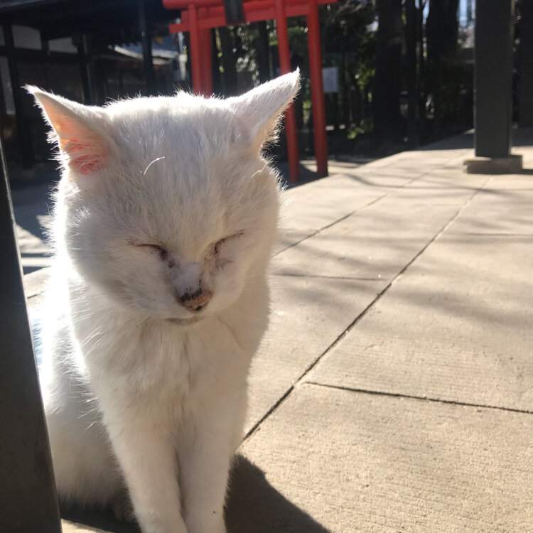
{"type": "Polygon", "coordinates": [[[308,379],[533,411],[532,271],[533,237],[444,236],[308,379]]]}

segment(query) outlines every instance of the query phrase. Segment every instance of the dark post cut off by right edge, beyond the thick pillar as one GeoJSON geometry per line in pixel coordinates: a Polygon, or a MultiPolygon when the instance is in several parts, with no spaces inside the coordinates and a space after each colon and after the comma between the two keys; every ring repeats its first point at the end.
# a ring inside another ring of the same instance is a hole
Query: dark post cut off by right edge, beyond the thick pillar
{"type": "Polygon", "coordinates": [[[533,2],[520,5],[520,93],[518,123],[533,127],[533,2]]]}

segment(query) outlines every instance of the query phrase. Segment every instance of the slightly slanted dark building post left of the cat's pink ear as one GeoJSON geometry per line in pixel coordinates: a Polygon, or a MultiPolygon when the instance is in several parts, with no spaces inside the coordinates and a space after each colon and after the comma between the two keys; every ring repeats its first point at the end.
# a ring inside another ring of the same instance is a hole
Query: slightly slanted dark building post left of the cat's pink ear
{"type": "Polygon", "coordinates": [[[33,165],[33,150],[31,148],[30,129],[24,113],[22,101],[21,78],[18,75],[15,45],[13,42],[13,30],[11,24],[4,24],[4,40],[6,42],[7,63],[9,77],[11,77],[11,90],[13,90],[13,102],[15,104],[16,134],[21,151],[22,168],[31,168],[33,165]]]}

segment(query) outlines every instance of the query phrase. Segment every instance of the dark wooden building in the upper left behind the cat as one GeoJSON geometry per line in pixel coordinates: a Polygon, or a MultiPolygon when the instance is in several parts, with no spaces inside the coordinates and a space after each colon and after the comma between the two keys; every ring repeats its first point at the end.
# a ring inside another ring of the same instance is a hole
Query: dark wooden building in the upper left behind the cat
{"type": "Polygon", "coordinates": [[[161,0],[0,1],[0,124],[9,166],[50,158],[45,125],[23,85],[86,104],[181,85],[183,55],[172,36],[164,38],[176,16],[161,0]],[[154,36],[166,48],[153,49],[154,36]]]}

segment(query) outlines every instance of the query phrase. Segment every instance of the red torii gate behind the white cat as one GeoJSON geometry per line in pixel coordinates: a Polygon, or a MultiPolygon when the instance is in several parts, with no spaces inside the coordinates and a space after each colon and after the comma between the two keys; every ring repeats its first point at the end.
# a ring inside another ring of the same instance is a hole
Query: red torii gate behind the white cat
{"type": "MultiPolygon", "coordinates": [[[[171,33],[190,32],[190,63],[193,90],[212,94],[210,29],[228,23],[276,20],[279,66],[281,74],[291,72],[287,17],[306,16],[308,28],[309,70],[315,134],[316,166],[319,176],[328,176],[328,144],[325,136],[325,107],[322,81],[322,53],[318,4],[334,4],[337,0],[163,0],[166,9],[181,9],[181,22],[170,25],[171,33]],[[230,12],[234,20],[228,21],[230,12]]],[[[291,181],[299,178],[298,141],[294,106],[285,113],[287,152],[291,181]]]]}

